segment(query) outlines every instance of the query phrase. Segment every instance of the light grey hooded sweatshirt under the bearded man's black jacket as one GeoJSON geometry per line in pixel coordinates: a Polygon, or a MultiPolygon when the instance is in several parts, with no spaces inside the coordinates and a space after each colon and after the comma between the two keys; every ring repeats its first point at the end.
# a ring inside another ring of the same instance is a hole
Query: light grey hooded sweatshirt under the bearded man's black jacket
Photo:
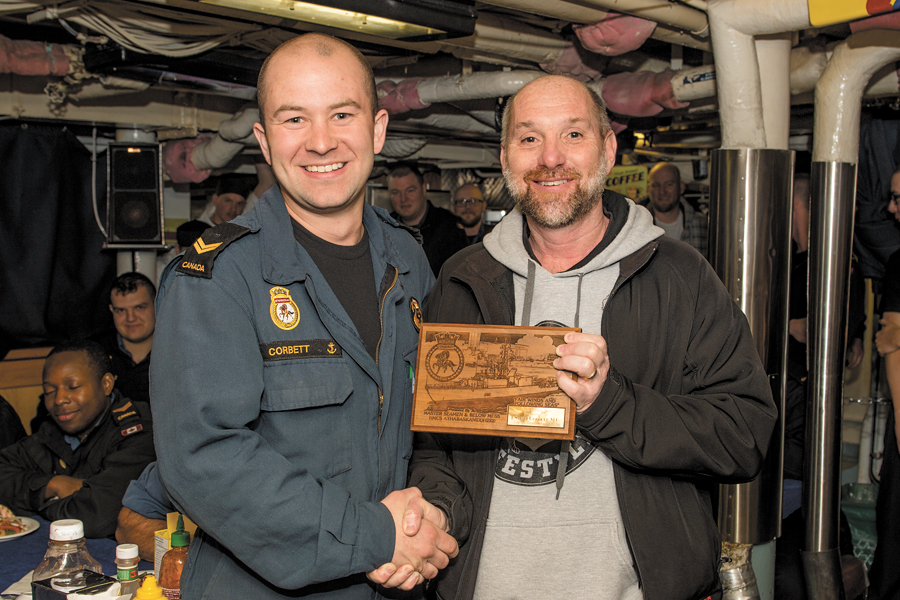
{"type": "MultiPolygon", "coordinates": [[[[627,215],[607,212],[614,221],[606,238],[613,239],[605,238],[599,252],[563,273],[550,273],[529,255],[518,208],[485,237],[487,251],[513,272],[517,325],[553,321],[600,333],[619,261],[663,235],[645,209],[630,200],[627,209],[627,215]]],[[[571,445],[550,442],[536,450],[522,440],[504,440],[475,598],[537,600],[557,597],[563,589],[572,599],[643,597],[612,461],[580,437],[571,445]]]]}

